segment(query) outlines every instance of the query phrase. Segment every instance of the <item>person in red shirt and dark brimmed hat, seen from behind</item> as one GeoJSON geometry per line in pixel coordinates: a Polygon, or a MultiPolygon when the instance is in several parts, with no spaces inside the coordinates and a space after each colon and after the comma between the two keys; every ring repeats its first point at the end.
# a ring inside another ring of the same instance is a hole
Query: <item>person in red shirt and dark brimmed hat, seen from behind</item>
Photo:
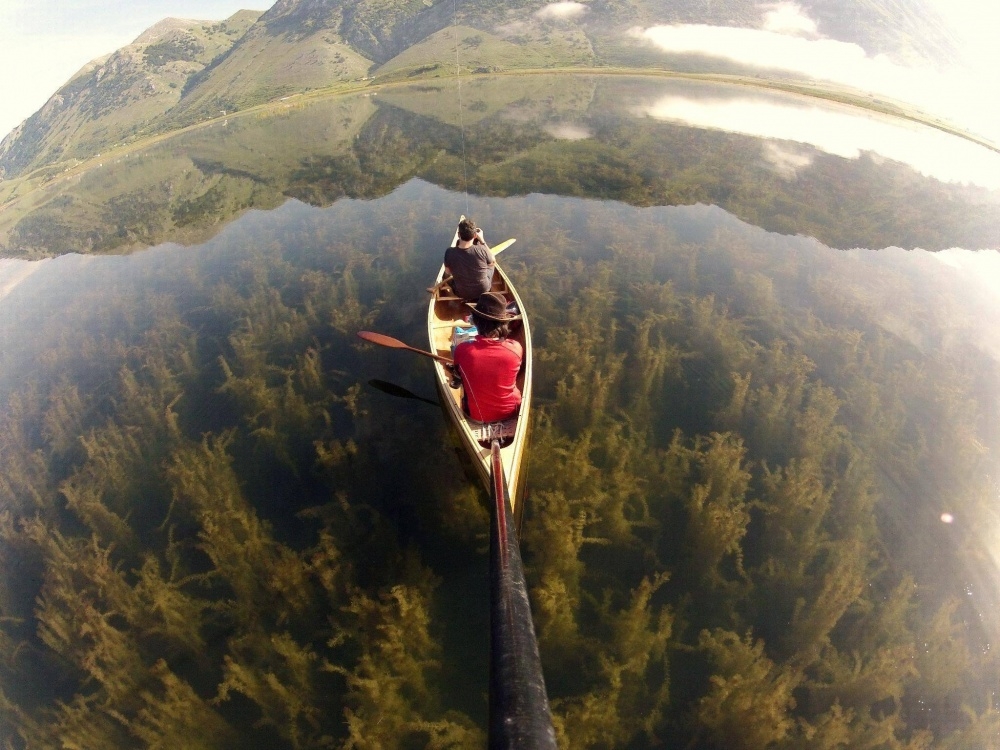
{"type": "Polygon", "coordinates": [[[507,311],[500,292],[480,295],[472,309],[479,335],[455,348],[455,371],[465,388],[469,416],[479,422],[500,422],[517,414],[521,391],[517,373],[524,350],[510,335],[510,322],[520,316],[507,311]]]}

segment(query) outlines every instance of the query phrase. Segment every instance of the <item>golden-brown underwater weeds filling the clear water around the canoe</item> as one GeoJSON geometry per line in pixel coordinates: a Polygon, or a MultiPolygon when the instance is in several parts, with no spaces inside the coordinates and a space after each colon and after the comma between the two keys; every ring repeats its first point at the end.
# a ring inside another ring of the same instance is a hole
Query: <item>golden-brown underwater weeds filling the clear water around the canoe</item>
{"type": "MultiPolygon", "coordinates": [[[[454,203],[289,204],[0,301],[4,747],[483,746],[484,498],[364,385],[420,358],[354,336],[419,343],[454,203]]],[[[1000,373],[947,280],[704,207],[476,217],[535,329],[560,746],[995,741],[1000,373]]]]}

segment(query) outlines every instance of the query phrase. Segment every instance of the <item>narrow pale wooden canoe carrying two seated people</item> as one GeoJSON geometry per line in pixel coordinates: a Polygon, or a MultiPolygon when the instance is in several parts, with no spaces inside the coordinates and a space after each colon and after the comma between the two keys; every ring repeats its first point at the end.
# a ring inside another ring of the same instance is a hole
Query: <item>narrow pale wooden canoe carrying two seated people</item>
{"type": "MultiPolygon", "coordinates": [[[[452,245],[458,241],[458,232],[452,240],[452,245]]],[[[435,291],[427,307],[427,336],[430,340],[430,350],[441,356],[451,358],[452,342],[456,334],[461,335],[462,327],[471,312],[465,302],[454,296],[450,288],[441,282],[444,279],[444,264],[438,271],[434,281],[435,291]]],[[[507,274],[499,262],[493,273],[493,291],[502,292],[508,302],[515,302],[521,312],[521,320],[511,324],[510,338],[521,344],[524,349],[524,359],[521,371],[517,376],[517,386],[521,391],[521,409],[517,416],[503,423],[506,437],[501,441],[500,458],[504,475],[510,492],[511,510],[517,525],[520,526],[522,498],[526,486],[526,457],[528,446],[528,426],[531,412],[531,329],[528,327],[528,316],[524,305],[517,294],[514,285],[510,283],[507,274]]],[[[462,409],[462,388],[452,388],[450,374],[441,362],[434,362],[434,380],[441,404],[448,420],[454,425],[458,439],[469,455],[472,465],[478,474],[483,487],[490,491],[490,439],[491,430],[495,426],[483,425],[466,415],[462,409]]]]}

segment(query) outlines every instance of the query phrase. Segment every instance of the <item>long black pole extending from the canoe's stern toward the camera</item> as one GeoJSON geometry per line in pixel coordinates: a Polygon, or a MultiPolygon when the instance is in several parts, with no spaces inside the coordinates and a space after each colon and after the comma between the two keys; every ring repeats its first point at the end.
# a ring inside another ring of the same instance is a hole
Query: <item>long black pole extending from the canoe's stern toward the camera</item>
{"type": "Polygon", "coordinates": [[[507,477],[494,440],[490,521],[490,750],[555,750],[507,477]]]}

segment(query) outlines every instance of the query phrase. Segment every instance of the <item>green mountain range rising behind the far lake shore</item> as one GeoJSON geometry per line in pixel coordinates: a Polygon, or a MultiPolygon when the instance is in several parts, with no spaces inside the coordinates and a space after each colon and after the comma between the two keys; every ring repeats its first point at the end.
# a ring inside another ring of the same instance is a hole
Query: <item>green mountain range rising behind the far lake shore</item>
{"type": "MultiPolygon", "coordinates": [[[[672,23],[761,28],[760,0],[278,0],[218,23],[167,19],[95,60],[0,142],[0,178],[49,175],[122,144],[283,97],[366,79],[573,66],[741,73],[662,53],[630,30],[672,23]]],[[[805,0],[816,34],[900,61],[954,46],[927,0],[805,0]]],[[[756,71],[760,74],[760,71],[756,71]]]]}

